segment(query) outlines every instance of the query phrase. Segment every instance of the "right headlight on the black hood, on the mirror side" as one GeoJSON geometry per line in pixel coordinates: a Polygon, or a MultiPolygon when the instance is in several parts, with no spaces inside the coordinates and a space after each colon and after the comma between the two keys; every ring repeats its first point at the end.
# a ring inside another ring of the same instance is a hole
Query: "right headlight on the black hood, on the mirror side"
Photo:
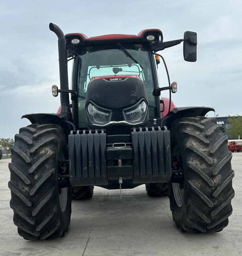
{"type": "Polygon", "coordinates": [[[134,124],[142,122],[146,114],[146,109],[147,106],[144,101],[141,101],[138,105],[135,105],[134,107],[125,109],[123,111],[125,121],[134,124]]]}

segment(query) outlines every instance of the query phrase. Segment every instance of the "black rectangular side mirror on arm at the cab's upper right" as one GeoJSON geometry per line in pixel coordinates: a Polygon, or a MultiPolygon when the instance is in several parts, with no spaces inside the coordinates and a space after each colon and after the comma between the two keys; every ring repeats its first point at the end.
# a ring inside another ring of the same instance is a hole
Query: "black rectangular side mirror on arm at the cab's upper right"
{"type": "Polygon", "coordinates": [[[197,61],[197,33],[186,31],[183,39],[183,56],[185,61],[197,61]]]}

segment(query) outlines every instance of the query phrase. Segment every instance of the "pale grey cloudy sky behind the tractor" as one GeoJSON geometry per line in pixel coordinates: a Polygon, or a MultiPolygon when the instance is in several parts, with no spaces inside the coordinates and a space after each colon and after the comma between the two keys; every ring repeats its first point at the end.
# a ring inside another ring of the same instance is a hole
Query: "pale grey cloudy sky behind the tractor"
{"type": "MultiPolygon", "coordinates": [[[[56,113],[60,105],[51,94],[51,86],[59,85],[59,64],[50,22],[64,34],[88,37],[159,28],[168,41],[195,31],[197,62],[184,61],[183,43],[159,52],[171,82],[178,83],[173,102],[178,107],[211,106],[219,116],[241,115],[241,11],[241,0],[1,1],[0,138],[14,138],[30,124],[21,119],[24,114],[56,113]]],[[[160,84],[167,86],[161,65],[160,84]]]]}

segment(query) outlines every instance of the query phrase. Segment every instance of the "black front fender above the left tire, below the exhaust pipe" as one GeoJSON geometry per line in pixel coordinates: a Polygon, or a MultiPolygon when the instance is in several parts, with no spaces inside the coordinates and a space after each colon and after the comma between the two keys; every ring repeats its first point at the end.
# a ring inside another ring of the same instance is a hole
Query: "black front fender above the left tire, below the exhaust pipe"
{"type": "Polygon", "coordinates": [[[26,114],[21,117],[27,118],[31,123],[39,123],[39,124],[58,124],[64,129],[64,133],[66,134],[67,138],[70,134],[71,130],[76,130],[76,126],[74,123],[65,119],[64,116],[61,114],[54,114],[54,113],[37,113],[37,114],[26,114]]]}

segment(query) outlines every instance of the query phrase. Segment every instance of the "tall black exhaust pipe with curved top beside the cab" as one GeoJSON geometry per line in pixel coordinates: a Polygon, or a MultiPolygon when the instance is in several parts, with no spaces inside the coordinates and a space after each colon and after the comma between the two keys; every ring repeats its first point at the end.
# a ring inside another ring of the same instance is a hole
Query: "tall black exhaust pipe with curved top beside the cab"
{"type": "MultiPolygon", "coordinates": [[[[59,71],[60,71],[60,89],[68,88],[68,72],[67,72],[67,50],[66,39],[62,30],[54,23],[49,24],[49,28],[58,37],[58,52],[59,52],[59,71]]],[[[60,93],[61,98],[61,113],[71,113],[69,106],[69,94],[67,92],[60,93]]],[[[69,116],[69,115],[68,115],[69,116]]]]}

